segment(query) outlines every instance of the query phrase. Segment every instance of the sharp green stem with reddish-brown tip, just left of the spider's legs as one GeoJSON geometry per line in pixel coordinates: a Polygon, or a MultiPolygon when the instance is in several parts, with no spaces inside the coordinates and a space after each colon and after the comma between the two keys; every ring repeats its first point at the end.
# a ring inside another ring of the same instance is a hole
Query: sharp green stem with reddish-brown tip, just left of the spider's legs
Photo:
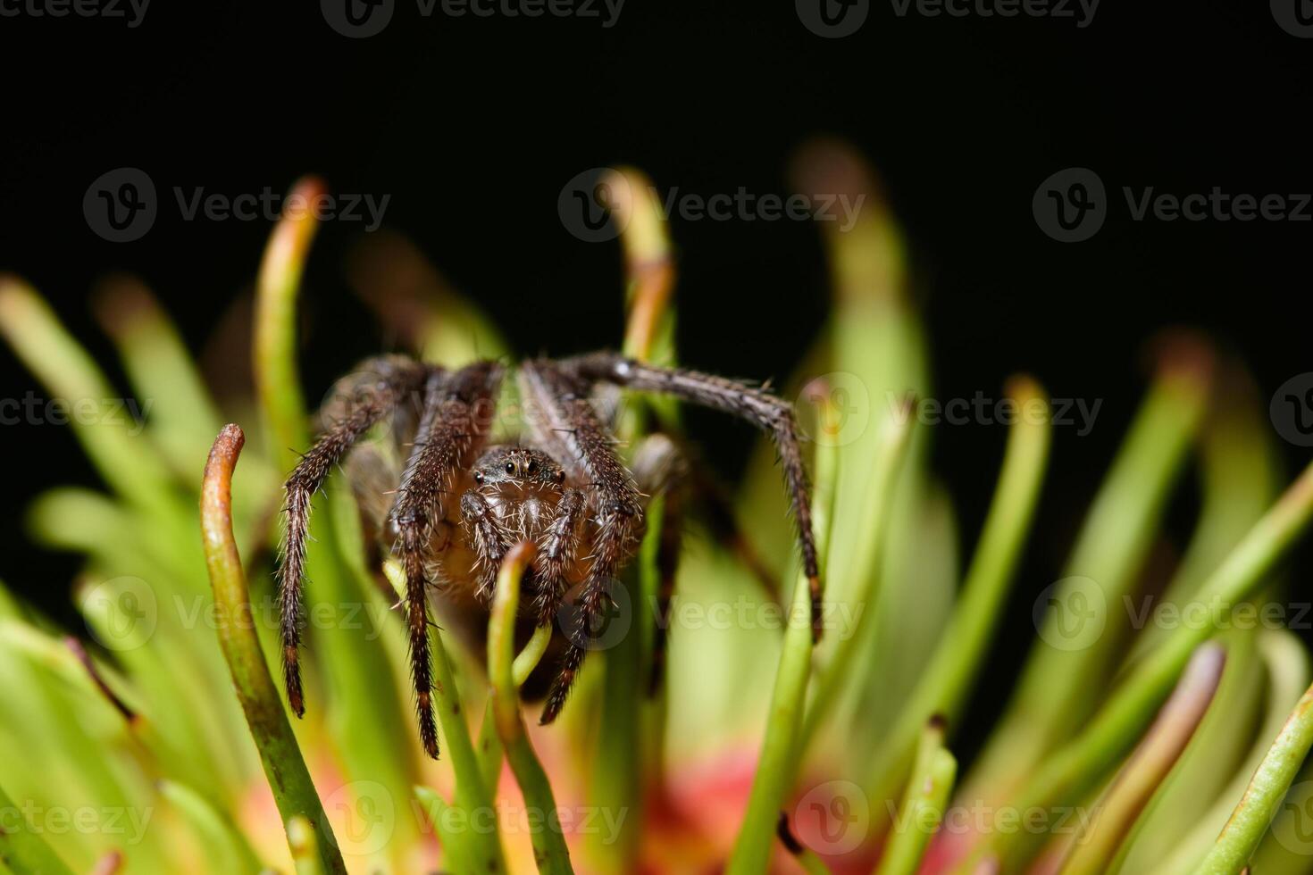
{"type": "MultiPolygon", "coordinates": [[[[201,485],[201,535],[205,543],[205,564],[214,588],[214,605],[219,617],[251,617],[249,593],[242,558],[232,539],[232,470],[246,436],[236,425],[225,425],[210,450],[201,485]]],[[[269,668],[260,651],[260,640],[251,623],[219,623],[219,645],[232,672],[242,711],[246,714],[251,736],[260,752],[260,763],[273,790],[284,824],[298,815],[310,820],[318,840],[319,855],[330,872],[345,874],[332,828],[324,815],[319,795],[310,781],[310,771],[297,739],[291,735],[288,715],[282,710],[278,691],[269,677],[269,668]]],[[[289,846],[291,837],[289,836],[289,846]]],[[[295,853],[295,847],[293,847],[295,853]]]]}

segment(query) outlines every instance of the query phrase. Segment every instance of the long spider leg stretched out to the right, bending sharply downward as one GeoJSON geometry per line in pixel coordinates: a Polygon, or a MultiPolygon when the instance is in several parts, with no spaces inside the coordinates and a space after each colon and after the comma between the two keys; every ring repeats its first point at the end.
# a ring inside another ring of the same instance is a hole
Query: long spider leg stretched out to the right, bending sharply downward
{"type": "Polygon", "coordinates": [[[659,392],[738,416],[764,429],[775,439],[789,489],[793,518],[802,548],[802,571],[811,586],[811,635],[821,636],[821,572],[815,539],[811,534],[811,504],[807,474],[802,464],[798,429],[788,403],[767,391],[744,386],[714,374],[674,367],[656,367],[614,353],[592,353],[559,363],[580,382],[612,383],[643,392],[659,392]]]}

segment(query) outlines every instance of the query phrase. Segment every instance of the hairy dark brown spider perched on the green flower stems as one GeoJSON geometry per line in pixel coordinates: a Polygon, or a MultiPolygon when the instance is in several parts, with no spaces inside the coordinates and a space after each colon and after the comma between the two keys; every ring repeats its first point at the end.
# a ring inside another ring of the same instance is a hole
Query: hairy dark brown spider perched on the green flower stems
{"type": "Polygon", "coordinates": [[[506,370],[491,361],[448,370],[404,356],[377,357],[339,382],[336,396],[353,399],[351,404],[326,403],[320,411],[323,432],[285,485],[277,572],[284,681],[297,716],[305,714],[298,651],[310,502],[330,470],[345,462],[357,481],[362,516],[369,516],[365,505],[376,506],[377,534],[391,540],[406,572],[399,607],[406,614],[416,718],[428,756],[437,757],[429,590],[486,606],[502,559],[525,539],[537,547],[523,581],[528,619],[553,623],[566,594],[578,592],[574,628],[559,630],[567,640],[540,723],[555,719],[588,649],[588,631],[604,619],[613,580],[642,538],[650,496],[670,489],[680,467],[675,443],[663,434],[645,438],[633,471],[625,467],[595,397],[604,387],[671,395],[748,420],[773,437],[811,588],[813,634],[819,634],[821,584],[806,471],[785,401],[722,376],[607,352],[538,358],[517,369],[523,442],[494,445],[490,425],[506,370]],[[362,441],[385,421],[393,425],[394,447],[398,460],[406,457],[404,464],[389,468],[385,455],[362,441]],[[379,478],[394,478],[395,488],[360,488],[379,478]]]}

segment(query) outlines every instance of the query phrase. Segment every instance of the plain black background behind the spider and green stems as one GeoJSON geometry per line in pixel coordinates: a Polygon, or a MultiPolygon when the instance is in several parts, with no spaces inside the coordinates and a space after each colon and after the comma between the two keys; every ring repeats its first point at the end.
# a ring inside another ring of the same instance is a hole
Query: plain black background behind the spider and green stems
{"type": "MultiPolygon", "coordinates": [[[[390,193],[386,224],[521,350],[569,353],[618,342],[621,295],[614,244],[582,243],[557,216],[567,180],[632,163],[662,189],[788,193],[792,151],[836,134],[876,163],[905,224],[939,395],[997,395],[1024,369],[1054,396],[1104,399],[1088,437],[1057,436],[1003,659],[1033,634],[1029,601],[1056,576],[1134,409],[1145,338],[1204,328],[1245,357],[1264,399],[1313,370],[1302,303],[1313,226],[1133,222],[1117,194],[1313,192],[1313,41],[1283,31],[1266,3],[1104,0],[1082,29],[898,17],[877,0],[856,35],[822,39],[790,3],[629,0],[604,29],[596,18],[423,18],[399,0],[390,26],[358,41],[315,4],[272,5],[156,0],[135,29],[0,18],[0,268],[37,285],[102,361],[112,352],[88,307],[98,277],[142,275],[200,345],[253,278],[269,231],[183,222],[165,202],[146,237],[106,243],[81,198],[112,168],[139,167],[165,193],[282,192],[305,172],[337,192],[390,193]],[[1082,165],[1117,199],[1092,240],[1060,244],[1036,227],[1031,197],[1054,171],[1082,165]]],[[[386,342],[343,278],[357,234],[330,223],[312,254],[309,397],[386,342]]],[[[672,234],[684,361],[786,375],[826,307],[815,227],[676,219],[672,234]]],[[[0,379],[4,397],[34,386],[7,349],[0,379]]],[[[737,472],[748,433],[693,425],[737,472]]],[[[0,439],[0,575],[63,603],[76,565],[24,542],[22,509],[42,488],[95,475],[66,428],[5,426],[0,439]]],[[[1002,441],[1001,426],[936,430],[935,466],[968,543],[1002,441]]],[[[1281,446],[1297,470],[1306,450],[1281,446]]],[[[1183,530],[1188,504],[1178,505],[1183,530]]]]}

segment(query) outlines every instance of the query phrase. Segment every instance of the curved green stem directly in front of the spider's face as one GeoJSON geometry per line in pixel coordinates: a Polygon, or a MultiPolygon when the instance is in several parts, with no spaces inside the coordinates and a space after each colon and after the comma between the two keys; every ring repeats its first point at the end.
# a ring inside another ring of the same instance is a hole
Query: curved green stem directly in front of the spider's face
{"type": "Polygon", "coordinates": [[[534,829],[530,841],[538,871],[544,875],[565,875],[570,867],[570,849],[565,836],[554,829],[557,803],[551,795],[548,773],[542,770],[533,745],[524,731],[520,716],[520,693],[512,666],[515,657],[515,617],[520,607],[520,577],[533,559],[533,543],[521,542],[502,560],[492,615],[488,618],[488,677],[492,681],[492,710],[498,735],[506,745],[506,758],[520,784],[524,804],[540,815],[542,826],[534,829]]]}

